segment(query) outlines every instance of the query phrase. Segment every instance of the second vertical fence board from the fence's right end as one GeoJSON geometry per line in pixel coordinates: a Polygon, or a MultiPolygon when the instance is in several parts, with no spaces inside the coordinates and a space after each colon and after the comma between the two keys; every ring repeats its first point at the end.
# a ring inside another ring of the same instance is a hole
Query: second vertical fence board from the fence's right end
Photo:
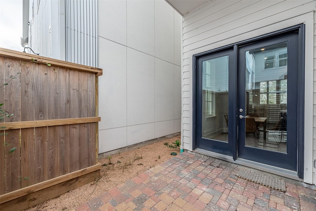
{"type": "MultiPolygon", "coordinates": [[[[88,117],[88,74],[79,73],[79,117],[88,117]]],[[[79,125],[79,168],[88,167],[88,125],[79,125]]]]}

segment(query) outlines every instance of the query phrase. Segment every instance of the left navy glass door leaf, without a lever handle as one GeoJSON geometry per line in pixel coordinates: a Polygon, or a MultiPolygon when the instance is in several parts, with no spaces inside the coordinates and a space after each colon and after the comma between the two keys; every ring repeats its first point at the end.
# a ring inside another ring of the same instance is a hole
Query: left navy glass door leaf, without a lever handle
{"type": "Polygon", "coordinates": [[[234,102],[229,101],[232,99],[229,96],[230,90],[235,85],[234,77],[231,77],[234,70],[233,58],[233,48],[197,58],[195,147],[225,155],[233,154],[233,144],[236,142],[234,122],[229,124],[234,119],[231,118],[234,102]]]}

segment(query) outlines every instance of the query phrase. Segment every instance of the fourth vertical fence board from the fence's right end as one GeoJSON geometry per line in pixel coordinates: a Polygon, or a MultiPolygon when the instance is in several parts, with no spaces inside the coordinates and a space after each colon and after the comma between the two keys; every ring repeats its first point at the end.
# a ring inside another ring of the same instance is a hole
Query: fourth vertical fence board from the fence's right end
{"type": "MultiPolygon", "coordinates": [[[[58,119],[70,117],[70,96],[69,96],[69,69],[59,68],[58,70],[58,119]]],[[[70,139],[69,125],[58,127],[59,136],[59,173],[64,175],[70,172],[70,139]]]]}

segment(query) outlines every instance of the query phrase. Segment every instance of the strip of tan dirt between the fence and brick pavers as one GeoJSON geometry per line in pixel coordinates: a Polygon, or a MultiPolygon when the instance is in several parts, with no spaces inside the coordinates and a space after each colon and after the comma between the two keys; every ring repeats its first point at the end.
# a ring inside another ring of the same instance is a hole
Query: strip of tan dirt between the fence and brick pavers
{"type": "Polygon", "coordinates": [[[174,143],[180,136],[159,140],[156,143],[142,146],[109,156],[99,163],[101,178],[94,183],[83,185],[57,198],[40,203],[27,211],[71,211],[94,197],[137,176],[148,169],[173,157],[171,152],[180,153],[180,149],[169,148],[164,143],[174,143]]]}

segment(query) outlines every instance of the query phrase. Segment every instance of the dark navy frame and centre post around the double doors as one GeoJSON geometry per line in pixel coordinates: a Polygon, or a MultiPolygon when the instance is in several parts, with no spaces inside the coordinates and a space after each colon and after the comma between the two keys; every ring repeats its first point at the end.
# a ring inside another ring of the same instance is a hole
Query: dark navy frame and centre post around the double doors
{"type": "MultiPolygon", "coordinates": [[[[229,140],[234,140],[233,143],[230,145],[232,147],[231,156],[234,160],[238,158],[238,143],[237,143],[237,102],[238,102],[238,48],[248,45],[250,43],[255,42],[262,42],[262,41],[269,41],[269,39],[274,39],[276,37],[286,36],[286,34],[296,32],[298,34],[298,61],[297,61],[297,69],[298,69],[298,85],[297,85],[297,100],[298,100],[298,107],[297,107],[297,174],[299,178],[304,178],[304,76],[305,76],[305,69],[304,69],[304,48],[305,48],[305,25],[300,24],[296,26],[292,26],[286,29],[282,29],[273,33],[269,33],[266,35],[258,36],[252,39],[248,39],[242,42],[237,42],[233,44],[229,44],[223,47],[219,47],[216,49],[212,49],[209,51],[205,51],[202,53],[198,53],[193,55],[193,149],[197,148],[197,121],[198,121],[198,105],[197,102],[200,98],[198,98],[198,60],[206,56],[207,54],[213,54],[219,51],[224,51],[228,49],[233,49],[234,54],[234,66],[233,71],[230,70],[229,74],[229,116],[236,117],[236,118],[229,118],[229,140]],[[233,89],[231,87],[234,87],[233,89]],[[230,131],[231,130],[231,131],[230,131]]],[[[231,69],[231,68],[230,68],[231,69]]]]}

